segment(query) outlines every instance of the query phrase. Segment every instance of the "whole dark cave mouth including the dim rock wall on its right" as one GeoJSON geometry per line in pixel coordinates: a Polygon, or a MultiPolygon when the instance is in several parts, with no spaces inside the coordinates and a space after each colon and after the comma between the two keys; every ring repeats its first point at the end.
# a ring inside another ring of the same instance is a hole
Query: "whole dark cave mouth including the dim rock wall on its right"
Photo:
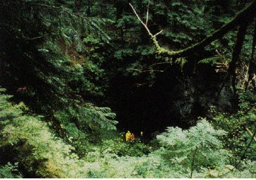
{"type": "Polygon", "coordinates": [[[224,87],[219,98],[223,74],[211,65],[186,65],[183,70],[171,68],[156,76],[152,87],[136,87],[129,78],[115,79],[110,105],[117,114],[119,128],[134,132],[164,131],[168,126],[189,128],[198,116],[211,116],[210,106],[232,109],[232,91],[224,87]]]}

